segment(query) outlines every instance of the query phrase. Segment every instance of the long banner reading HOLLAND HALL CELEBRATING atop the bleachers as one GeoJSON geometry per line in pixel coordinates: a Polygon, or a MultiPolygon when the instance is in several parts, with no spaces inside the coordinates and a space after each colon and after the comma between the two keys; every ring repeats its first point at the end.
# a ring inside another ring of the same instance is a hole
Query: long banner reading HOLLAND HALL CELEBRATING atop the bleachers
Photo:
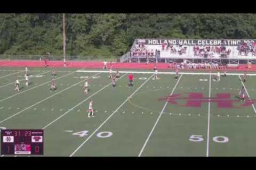
{"type": "MultiPolygon", "coordinates": [[[[137,39],[136,44],[145,43],[145,45],[162,45],[170,43],[171,45],[221,45],[221,39],[137,39]]],[[[237,46],[239,43],[254,43],[255,39],[225,39],[225,45],[237,46]]]]}

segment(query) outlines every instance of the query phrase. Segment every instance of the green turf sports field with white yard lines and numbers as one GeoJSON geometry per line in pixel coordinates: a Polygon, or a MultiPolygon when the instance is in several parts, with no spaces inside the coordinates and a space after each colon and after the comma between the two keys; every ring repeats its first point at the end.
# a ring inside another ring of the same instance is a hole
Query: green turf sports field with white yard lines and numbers
{"type": "Polygon", "coordinates": [[[244,83],[251,100],[241,102],[237,72],[215,81],[209,73],[175,80],[158,71],[153,80],[148,70],[133,74],[131,88],[121,72],[113,89],[102,70],[55,70],[51,92],[51,68],[29,68],[26,87],[25,68],[0,67],[0,129],[43,129],[44,156],[256,156],[254,74],[244,83]],[[91,99],[95,117],[88,118],[91,99]]]}

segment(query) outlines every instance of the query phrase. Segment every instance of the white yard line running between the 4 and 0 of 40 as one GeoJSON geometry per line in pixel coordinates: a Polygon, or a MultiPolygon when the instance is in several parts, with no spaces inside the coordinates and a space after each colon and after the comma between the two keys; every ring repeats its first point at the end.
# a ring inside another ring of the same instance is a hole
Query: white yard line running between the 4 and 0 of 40
{"type": "Polygon", "coordinates": [[[86,143],[94,135],[94,133],[96,133],[101,128],[101,126],[103,126],[103,124],[105,124],[109,120],[109,118],[112,117],[118,111],[118,109],[121,108],[126,103],[126,101],[128,101],[144,84],[146,84],[146,82],[148,82],[153,77],[153,75],[151,75],[144,83],[140,85],[139,88],[137,88],[137,90],[135,90],[129,97],[127,97],[124,103],[122,103],[119,107],[117,107],[115,112],[113,112],[110,116],[108,116],[108,118],[103,123],[101,123],[101,125],[78,148],[76,148],[76,150],[69,157],[73,156],[77,152],[77,150],[79,150],[84,145],[84,143],[86,143]]]}

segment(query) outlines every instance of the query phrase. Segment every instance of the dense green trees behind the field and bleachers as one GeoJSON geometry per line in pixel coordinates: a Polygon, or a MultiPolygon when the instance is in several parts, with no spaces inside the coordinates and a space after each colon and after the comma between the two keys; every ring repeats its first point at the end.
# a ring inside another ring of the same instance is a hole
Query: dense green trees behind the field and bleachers
{"type": "MultiPolygon", "coordinates": [[[[256,14],[66,14],[66,55],[121,56],[135,38],[256,39],[256,14]]],[[[0,14],[0,54],[63,55],[62,14],[0,14]]]]}

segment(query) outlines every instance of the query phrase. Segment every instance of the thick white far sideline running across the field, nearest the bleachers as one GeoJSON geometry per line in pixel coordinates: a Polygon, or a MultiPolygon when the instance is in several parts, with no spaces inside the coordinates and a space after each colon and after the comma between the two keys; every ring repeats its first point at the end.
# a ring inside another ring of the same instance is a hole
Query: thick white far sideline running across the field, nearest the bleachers
{"type": "MultiPolygon", "coordinates": [[[[100,70],[81,70],[81,71],[77,71],[77,72],[87,72],[87,73],[109,73],[109,71],[100,71],[100,70]]],[[[113,73],[116,73],[116,71],[112,71],[113,73]]],[[[142,74],[154,74],[154,72],[150,72],[150,71],[119,71],[119,73],[142,73],[142,74]]],[[[158,72],[158,74],[175,74],[175,72],[158,72]]],[[[217,75],[216,73],[203,73],[203,72],[180,72],[180,74],[188,74],[188,75],[217,75]]],[[[224,75],[224,73],[220,73],[221,75],[224,75]]],[[[243,73],[227,73],[227,75],[244,75],[243,73]]],[[[256,74],[247,74],[247,75],[256,75],[256,74]]]]}

